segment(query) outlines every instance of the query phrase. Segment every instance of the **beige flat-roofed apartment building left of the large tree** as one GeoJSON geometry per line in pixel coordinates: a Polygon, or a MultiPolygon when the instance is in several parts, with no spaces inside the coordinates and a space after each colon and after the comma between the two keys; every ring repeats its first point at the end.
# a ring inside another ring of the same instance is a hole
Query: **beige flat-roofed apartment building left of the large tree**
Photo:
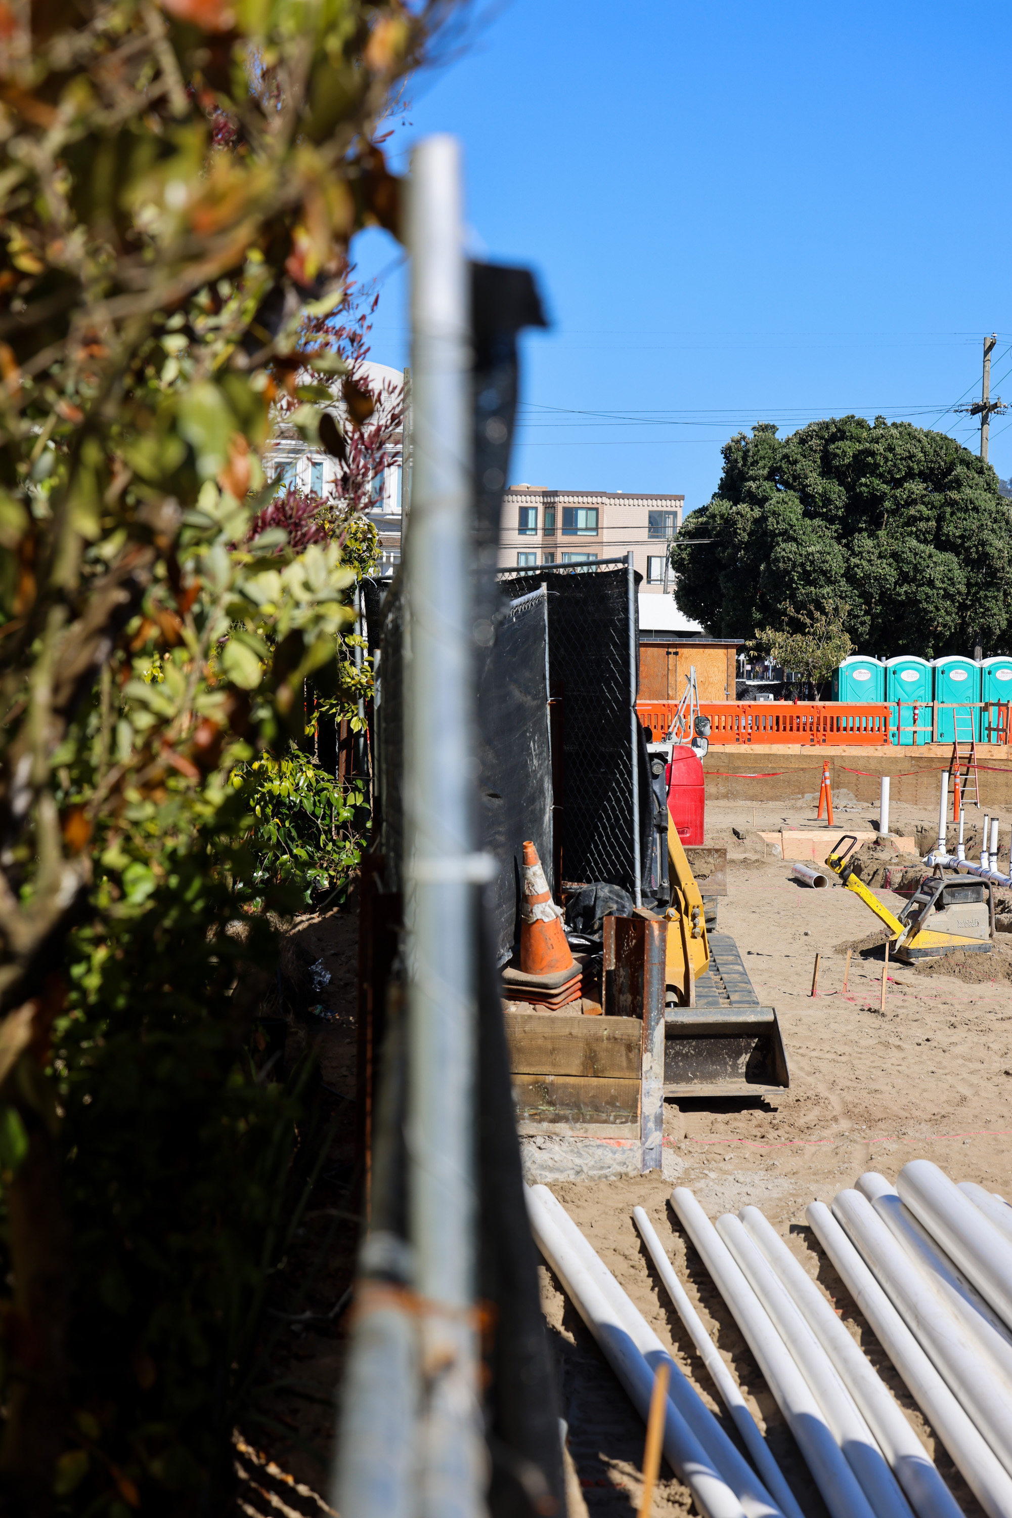
{"type": "Polygon", "coordinates": [[[671,594],[668,546],[681,527],[684,495],[549,490],[514,484],[502,496],[499,568],[587,563],[633,550],[640,595],[671,594]]]}

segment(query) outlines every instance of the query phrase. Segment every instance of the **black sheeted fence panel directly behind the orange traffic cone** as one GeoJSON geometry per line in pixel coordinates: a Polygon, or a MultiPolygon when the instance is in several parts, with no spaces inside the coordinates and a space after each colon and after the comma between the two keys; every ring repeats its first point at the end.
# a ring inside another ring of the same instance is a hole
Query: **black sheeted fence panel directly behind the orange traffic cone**
{"type": "Polygon", "coordinates": [[[496,964],[504,965],[519,935],[526,838],[554,890],[545,586],[502,607],[493,633],[478,679],[478,789],[484,847],[501,865],[486,893],[486,909],[496,964]]]}

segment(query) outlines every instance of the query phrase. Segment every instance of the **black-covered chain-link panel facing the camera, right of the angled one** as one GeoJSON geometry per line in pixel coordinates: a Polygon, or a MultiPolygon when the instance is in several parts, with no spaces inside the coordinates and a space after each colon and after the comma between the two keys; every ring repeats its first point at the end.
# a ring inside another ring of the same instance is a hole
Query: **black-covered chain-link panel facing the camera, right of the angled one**
{"type": "Polygon", "coordinates": [[[498,578],[511,597],[540,584],[548,589],[551,694],[563,704],[563,882],[605,880],[634,897],[640,820],[633,764],[646,759],[633,748],[630,621],[636,635],[636,587],[630,606],[625,568],[584,565],[508,569],[498,578]]]}

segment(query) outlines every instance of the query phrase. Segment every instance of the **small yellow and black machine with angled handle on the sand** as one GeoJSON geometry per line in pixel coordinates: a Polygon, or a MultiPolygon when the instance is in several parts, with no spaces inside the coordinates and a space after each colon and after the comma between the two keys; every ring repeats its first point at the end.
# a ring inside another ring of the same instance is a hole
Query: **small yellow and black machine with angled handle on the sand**
{"type": "Polygon", "coordinates": [[[915,894],[895,917],[857,874],[850,858],[856,844],[857,839],[845,833],[833,846],[825,864],[841,877],[847,890],[859,896],[886,924],[891,932],[891,955],[904,964],[915,964],[918,959],[930,959],[953,949],[991,953],[994,899],[989,882],[966,874],[945,874],[941,865],[935,865],[935,873],[924,876],[915,894]]]}

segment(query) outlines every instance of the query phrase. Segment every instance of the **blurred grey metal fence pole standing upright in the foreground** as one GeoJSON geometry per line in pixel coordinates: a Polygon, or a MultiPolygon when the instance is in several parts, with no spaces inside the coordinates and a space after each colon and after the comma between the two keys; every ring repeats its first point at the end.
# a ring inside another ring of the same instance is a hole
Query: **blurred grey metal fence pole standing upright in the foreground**
{"type": "Polygon", "coordinates": [[[419,1518],[484,1510],[475,1292],[475,694],[470,610],[470,301],[461,152],[413,155],[411,405],[405,543],[404,887],[408,1231],[425,1302],[419,1518]]]}

